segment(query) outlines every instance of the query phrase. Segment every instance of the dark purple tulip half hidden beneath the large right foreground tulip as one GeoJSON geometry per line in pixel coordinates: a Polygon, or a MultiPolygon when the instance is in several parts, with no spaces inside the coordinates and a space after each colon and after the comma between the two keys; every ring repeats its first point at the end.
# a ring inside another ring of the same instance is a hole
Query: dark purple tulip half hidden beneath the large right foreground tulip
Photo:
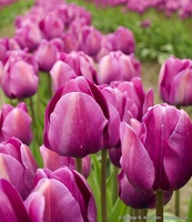
{"type": "MultiPolygon", "coordinates": [[[[151,209],[155,206],[155,193],[146,193],[135,189],[125,176],[124,172],[118,175],[120,199],[133,209],[151,209]]],[[[166,204],[173,192],[165,193],[164,204],[166,204]]]]}

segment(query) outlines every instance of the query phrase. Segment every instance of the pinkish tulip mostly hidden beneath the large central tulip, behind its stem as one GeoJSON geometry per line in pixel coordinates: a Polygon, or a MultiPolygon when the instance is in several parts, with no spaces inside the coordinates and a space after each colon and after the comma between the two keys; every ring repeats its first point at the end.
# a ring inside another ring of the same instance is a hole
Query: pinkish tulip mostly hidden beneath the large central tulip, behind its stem
{"type": "MultiPolygon", "coordinates": [[[[51,171],[54,171],[61,167],[69,167],[75,170],[75,159],[69,157],[62,157],[58,153],[47,149],[44,145],[40,148],[43,167],[51,171]]],[[[88,178],[91,171],[91,159],[89,155],[82,159],[82,174],[88,178]]]]}

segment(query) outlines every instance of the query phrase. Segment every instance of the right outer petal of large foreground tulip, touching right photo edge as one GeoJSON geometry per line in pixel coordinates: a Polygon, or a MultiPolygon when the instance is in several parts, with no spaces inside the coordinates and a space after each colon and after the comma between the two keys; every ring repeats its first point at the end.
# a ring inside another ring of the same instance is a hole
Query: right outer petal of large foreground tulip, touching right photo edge
{"type": "Polygon", "coordinates": [[[179,122],[170,137],[171,149],[164,157],[164,169],[169,178],[170,190],[182,188],[192,172],[192,124],[186,113],[181,110],[179,122]]]}

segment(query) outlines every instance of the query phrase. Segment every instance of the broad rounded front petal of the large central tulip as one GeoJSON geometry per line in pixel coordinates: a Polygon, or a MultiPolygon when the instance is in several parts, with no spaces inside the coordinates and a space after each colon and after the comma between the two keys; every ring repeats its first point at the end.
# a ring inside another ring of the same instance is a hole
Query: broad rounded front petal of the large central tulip
{"type": "Polygon", "coordinates": [[[50,115],[51,149],[73,158],[95,153],[102,148],[105,124],[107,119],[93,98],[80,92],[67,93],[50,115]]]}

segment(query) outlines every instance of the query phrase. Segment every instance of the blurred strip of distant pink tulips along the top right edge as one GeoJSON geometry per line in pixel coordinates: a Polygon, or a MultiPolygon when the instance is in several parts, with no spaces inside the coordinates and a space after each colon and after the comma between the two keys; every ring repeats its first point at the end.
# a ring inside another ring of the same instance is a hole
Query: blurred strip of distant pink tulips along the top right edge
{"type": "Polygon", "coordinates": [[[180,18],[185,19],[192,16],[191,0],[94,0],[97,4],[107,6],[125,6],[128,10],[143,13],[150,8],[163,10],[168,17],[176,12],[180,18]]]}

